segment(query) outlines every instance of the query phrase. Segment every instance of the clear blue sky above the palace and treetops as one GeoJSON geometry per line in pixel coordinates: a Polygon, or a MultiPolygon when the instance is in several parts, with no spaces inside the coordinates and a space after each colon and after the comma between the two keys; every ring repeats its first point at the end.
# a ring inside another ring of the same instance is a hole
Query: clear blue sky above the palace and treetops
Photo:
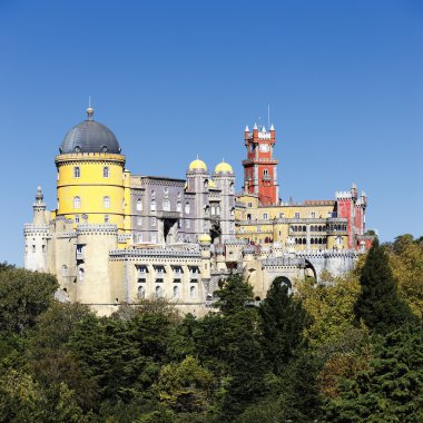
{"type": "Polygon", "coordinates": [[[422,52],[421,0],[0,0],[0,262],[23,264],[38,185],[56,207],[88,96],[132,173],[224,157],[238,189],[269,104],[283,200],[355,181],[382,240],[423,235],[422,52]]]}

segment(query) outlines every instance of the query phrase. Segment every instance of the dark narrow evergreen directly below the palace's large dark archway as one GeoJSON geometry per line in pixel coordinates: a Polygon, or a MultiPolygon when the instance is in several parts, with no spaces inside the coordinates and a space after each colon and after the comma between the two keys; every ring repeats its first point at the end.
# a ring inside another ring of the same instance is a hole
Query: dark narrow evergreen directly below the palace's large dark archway
{"type": "Polygon", "coordinates": [[[273,281],[266,298],[259,306],[264,354],[276,374],[304,346],[304,329],[311,319],[302,301],[288,293],[282,277],[273,281]]]}

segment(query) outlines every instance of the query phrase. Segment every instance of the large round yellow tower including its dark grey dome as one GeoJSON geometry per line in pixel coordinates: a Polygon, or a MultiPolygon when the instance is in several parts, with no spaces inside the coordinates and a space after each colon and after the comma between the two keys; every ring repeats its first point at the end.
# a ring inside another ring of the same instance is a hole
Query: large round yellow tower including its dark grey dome
{"type": "Polygon", "coordinates": [[[115,134],[92,119],[66,135],[56,156],[57,216],[75,224],[114,224],[125,229],[125,156],[115,134]]]}

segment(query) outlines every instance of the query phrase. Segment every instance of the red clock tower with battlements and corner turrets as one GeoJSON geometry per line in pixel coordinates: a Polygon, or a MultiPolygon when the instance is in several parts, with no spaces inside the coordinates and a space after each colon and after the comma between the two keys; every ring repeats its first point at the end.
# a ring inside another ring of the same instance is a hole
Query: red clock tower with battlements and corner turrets
{"type": "Polygon", "coordinates": [[[265,127],[254,125],[253,134],[245,128],[245,146],[247,159],[244,166],[244,193],[256,194],[262,205],[279,203],[279,186],[277,184],[277,163],[273,158],[275,145],[275,128],[266,132],[265,127]]]}

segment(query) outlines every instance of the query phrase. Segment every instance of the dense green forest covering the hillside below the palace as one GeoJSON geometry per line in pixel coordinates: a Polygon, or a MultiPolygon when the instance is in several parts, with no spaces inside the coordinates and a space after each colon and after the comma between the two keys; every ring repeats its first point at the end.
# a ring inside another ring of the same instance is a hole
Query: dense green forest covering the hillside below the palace
{"type": "Polygon", "coordinates": [[[232,275],[203,318],[98,317],[57,287],[0,265],[0,422],[423,422],[422,238],[260,303],[232,275]]]}

